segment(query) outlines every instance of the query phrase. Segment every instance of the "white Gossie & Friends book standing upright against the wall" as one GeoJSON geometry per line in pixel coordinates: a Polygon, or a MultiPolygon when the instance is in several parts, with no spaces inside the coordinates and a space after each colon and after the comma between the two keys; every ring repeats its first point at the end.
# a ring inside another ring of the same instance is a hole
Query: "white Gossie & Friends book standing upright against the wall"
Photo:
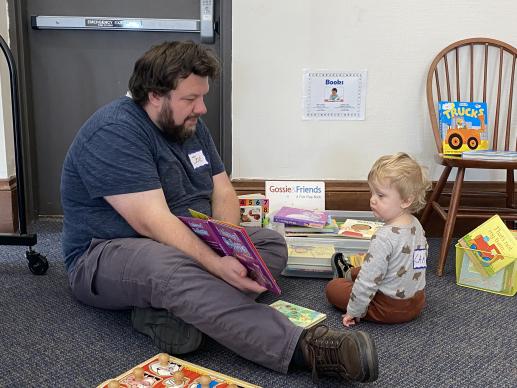
{"type": "Polygon", "coordinates": [[[282,206],[325,210],[325,182],[266,181],[266,197],[270,214],[282,206]]]}

